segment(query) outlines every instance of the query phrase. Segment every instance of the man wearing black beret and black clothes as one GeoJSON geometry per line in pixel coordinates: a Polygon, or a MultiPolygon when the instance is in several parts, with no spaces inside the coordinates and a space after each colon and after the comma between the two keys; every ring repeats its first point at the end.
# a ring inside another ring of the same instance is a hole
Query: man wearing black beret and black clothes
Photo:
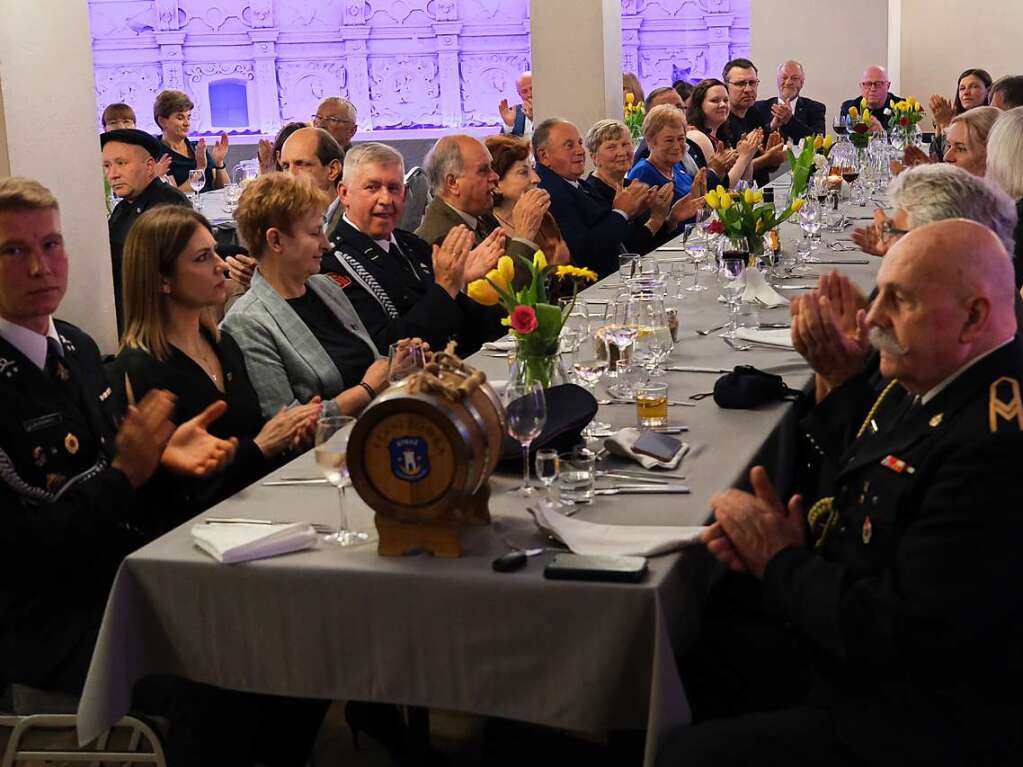
{"type": "Polygon", "coordinates": [[[162,205],[186,206],[188,198],[157,175],[162,154],[160,142],[145,131],[122,128],[99,136],[103,150],[103,173],[110,190],[121,197],[107,226],[114,269],[114,305],[118,314],[118,334],[124,329],[124,300],[121,295],[121,260],[128,230],[135,219],[162,205]]]}

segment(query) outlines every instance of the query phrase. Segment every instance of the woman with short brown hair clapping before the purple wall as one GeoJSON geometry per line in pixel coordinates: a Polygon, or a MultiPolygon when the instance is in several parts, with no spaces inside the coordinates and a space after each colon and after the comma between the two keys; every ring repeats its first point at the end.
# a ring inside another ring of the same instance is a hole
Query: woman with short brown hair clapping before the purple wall
{"type": "Polygon", "coordinates": [[[191,126],[191,110],[195,107],[184,91],[161,91],[152,103],[152,119],[162,132],[161,143],[171,155],[171,175],[174,183],[183,192],[192,190],[188,183],[190,171],[206,172],[206,189],[220,189],[230,183],[224,161],[227,159],[227,134],[221,133],[220,140],[211,149],[206,148],[206,139],[192,143],[188,140],[191,126]]]}

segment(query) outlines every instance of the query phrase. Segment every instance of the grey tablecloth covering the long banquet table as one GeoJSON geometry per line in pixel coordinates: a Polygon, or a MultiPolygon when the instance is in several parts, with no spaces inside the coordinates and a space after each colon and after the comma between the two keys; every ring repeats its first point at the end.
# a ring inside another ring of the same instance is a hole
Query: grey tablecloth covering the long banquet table
{"type": "MultiPolygon", "coordinates": [[[[845,212],[853,225],[870,216],[864,208],[845,212]]],[[[826,234],[825,241],[848,239],[849,231],[826,234]]],[[[799,229],[787,223],[782,236],[794,246],[799,229]]],[[[869,289],[879,263],[814,271],[839,268],[869,289]]],[[[782,372],[791,386],[805,385],[809,371],[793,352],[736,352],[717,333],[695,332],[722,322],[726,311],[713,275],[704,279],[710,290],[678,304],[679,341],[669,364],[751,364],[782,372]]],[[[614,295],[597,284],[584,298],[614,295]]],[[[761,321],[787,318],[787,308],[761,310],[761,321]]],[[[490,377],[507,377],[503,359],[478,354],[471,362],[490,377]]],[[[664,380],[672,399],[684,400],[711,391],[715,378],[668,373],[664,380]]],[[[685,476],[691,494],[597,498],[577,518],[704,524],[710,496],[745,481],[790,410],[789,403],[723,410],[712,398],[672,407],[671,422],[688,426],[682,439],[691,451],[675,473],[685,476]]],[[[631,425],[635,409],[602,406],[598,417],[631,425]]],[[[272,477],[295,476],[317,476],[312,452],[272,477]]],[[[223,566],[192,546],[191,522],[142,547],[124,561],[109,596],[79,709],[80,738],[94,737],[128,712],[135,681],[170,673],[238,690],[475,712],[579,731],[647,728],[646,763],[653,764],[665,733],[688,722],[675,655],[699,628],[713,572],[709,557],[694,546],[652,558],[649,575],[634,585],[544,580],[549,553],[520,572],[495,573],[490,563],[508,550],[506,540],[543,545],[526,502],[503,492],[518,479],[493,478],[495,525],[469,530],[458,559],[381,557],[367,544],[223,566]]],[[[372,529],[371,511],[351,490],[347,507],[355,527],[372,529]]],[[[207,515],[333,524],[337,508],[329,487],[257,484],[207,515]]]]}

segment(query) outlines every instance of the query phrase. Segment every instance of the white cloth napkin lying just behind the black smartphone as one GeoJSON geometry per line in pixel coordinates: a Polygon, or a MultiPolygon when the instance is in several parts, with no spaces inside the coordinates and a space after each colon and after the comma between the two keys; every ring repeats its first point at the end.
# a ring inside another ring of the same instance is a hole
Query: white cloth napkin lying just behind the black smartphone
{"type": "Polygon", "coordinates": [[[573,552],[584,556],[657,556],[697,541],[704,531],[666,525],[597,525],[544,509],[540,504],[531,510],[541,529],[550,531],[573,552]]]}

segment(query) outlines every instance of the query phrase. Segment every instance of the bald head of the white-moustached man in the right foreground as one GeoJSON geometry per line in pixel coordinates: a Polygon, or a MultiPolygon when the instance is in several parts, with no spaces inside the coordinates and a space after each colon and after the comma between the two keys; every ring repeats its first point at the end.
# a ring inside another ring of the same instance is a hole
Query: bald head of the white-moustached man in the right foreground
{"type": "Polygon", "coordinates": [[[866,316],[881,372],[923,395],[1016,332],[1013,265],[1000,240],[975,221],[918,227],[878,272],[866,316]]]}

